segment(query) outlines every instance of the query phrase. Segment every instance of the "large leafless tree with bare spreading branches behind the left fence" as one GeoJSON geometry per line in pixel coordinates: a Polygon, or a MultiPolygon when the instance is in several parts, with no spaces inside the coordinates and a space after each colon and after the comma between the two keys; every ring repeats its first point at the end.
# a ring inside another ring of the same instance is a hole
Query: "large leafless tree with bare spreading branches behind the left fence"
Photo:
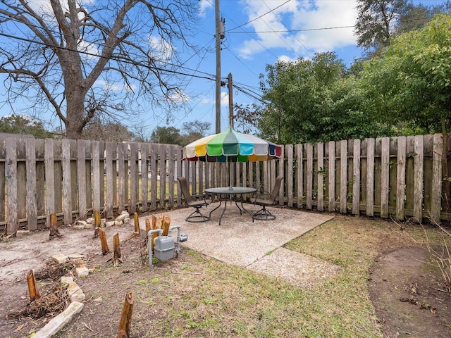
{"type": "MultiPolygon", "coordinates": [[[[97,115],[131,119],[149,104],[183,101],[171,63],[175,42],[187,42],[197,0],[1,1],[0,73],[5,98],[30,99],[36,113],[53,111],[66,137],[82,137],[97,115]],[[140,106],[145,104],[145,106],[140,106]]],[[[181,46],[179,46],[181,47],[181,46]]]]}

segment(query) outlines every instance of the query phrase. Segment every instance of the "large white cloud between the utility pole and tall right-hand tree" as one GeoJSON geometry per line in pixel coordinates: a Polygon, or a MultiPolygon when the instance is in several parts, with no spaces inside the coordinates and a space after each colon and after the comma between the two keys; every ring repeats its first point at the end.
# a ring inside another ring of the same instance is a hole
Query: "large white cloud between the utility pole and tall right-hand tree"
{"type": "Polygon", "coordinates": [[[317,29],[354,26],[357,1],[292,0],[280,6],[285,1],[243,1],[249,21],[263,16],[245,27],[252,27],[257,37],[242,43],[240,56],[252,58],[261,51],[278,48],[292,51],[296,57],[311,57],[315,52],[333,51],[355,44],[353,27],[317,29]],[[271,11],[277,6],[280,8],[271,11]],[[288,30],[290,32],[286,32],[288,30]]]}

